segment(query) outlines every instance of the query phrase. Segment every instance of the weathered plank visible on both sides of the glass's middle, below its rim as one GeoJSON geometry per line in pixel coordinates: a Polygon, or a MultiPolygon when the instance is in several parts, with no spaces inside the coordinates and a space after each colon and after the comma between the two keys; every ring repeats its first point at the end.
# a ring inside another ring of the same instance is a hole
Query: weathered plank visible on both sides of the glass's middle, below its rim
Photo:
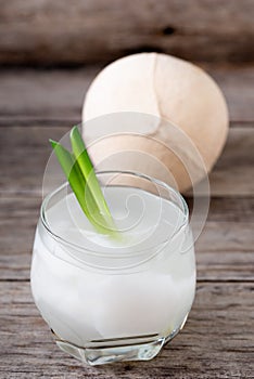
{"type": "MultiPolygon", "coordinates": [[[[0,198],[0,279],[29,279],[41,199],[0,198]]],[[[198,280],[254,280],[254,198],[213,198],[196,246],[198,280]]]]}

